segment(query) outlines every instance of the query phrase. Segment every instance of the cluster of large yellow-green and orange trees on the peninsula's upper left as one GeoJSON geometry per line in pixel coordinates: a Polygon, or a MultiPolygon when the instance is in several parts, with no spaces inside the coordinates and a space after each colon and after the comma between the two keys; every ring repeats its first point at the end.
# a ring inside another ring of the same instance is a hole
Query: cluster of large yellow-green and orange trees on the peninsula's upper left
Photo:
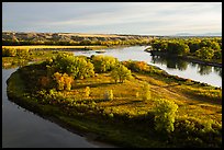
{"type": "MultiPolygon", "coordinates": [[[[74,56],[58,54],[44,62],[46,76],[40,78],[40,84],[44,89],[70,90],[74,80],[94,77],[97,72],[110,72],[115,82],[124,82],[132,77],[131,70],[116,58],[108,56],[74,56]]],[[[89,95],[88,88],[86,96],[89,95]]]]}

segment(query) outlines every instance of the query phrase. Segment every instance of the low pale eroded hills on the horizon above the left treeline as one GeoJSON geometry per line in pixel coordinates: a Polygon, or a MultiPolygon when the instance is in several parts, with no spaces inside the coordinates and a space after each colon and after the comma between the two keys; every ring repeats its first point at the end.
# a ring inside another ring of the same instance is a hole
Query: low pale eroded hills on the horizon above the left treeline
{"type": "Polygon", "coordinates": [[[83,33],[25,33],[2,32],[2,41],[30,41],[30,42],[80,42],[80,41],[126,41],[126,39],[152,39],[147,35],[119,35],[119,34],[83,34],[83,33]]]}

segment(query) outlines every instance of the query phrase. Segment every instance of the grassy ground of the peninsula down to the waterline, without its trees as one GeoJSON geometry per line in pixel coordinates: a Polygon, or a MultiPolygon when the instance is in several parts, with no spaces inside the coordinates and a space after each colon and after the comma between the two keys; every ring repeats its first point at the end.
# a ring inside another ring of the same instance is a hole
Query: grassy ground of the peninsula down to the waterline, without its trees
{"type": "MultiPolygon", "coordinates": [[[[27,69],[29,67],[26,67],[26,73],[33,70],[32,67],[27,69]]],[[[20,70],[22,71],[23,68],[20,70]]],[[[212,120],[213,129],[217,132],[219,124],[222,129],[222,103],[220,103],[222,94],[221,97],[217,95],[221,89],[177,77],[171,79],[171,76],[167,78],[137,72],[133,72],[132,80],[115,84],[111,82],[109,74],[100,73],[94,78],[77,80],[71,91],[55,91],[55,96],[64,95],[61,100],[65,101],[61,102],[65,103],[53,103],[58,100],[57,96],[48,101],[44,97],[37,99],[36,93],[29,93],[25,85],[30,81],[27,78],[24,80],[25,72],[23,70],[21,73],[21,71],[20,73],[16,71],[8,80],[8,94],[12,101],[43,116],[59,119],[70,128],[97,134],[97,140],[110,141],[120,147],[149,148],[192,147],[192,142],[193,147],[220,147],[220,141],[222,143],[222,137],[216,135],[217,139],[208,141],[204,139],[206,138],[205,132],[202,131],[203,125],[206,124],[204,120],[212,120]],[[150,84],[152,100],[148,101],[135,95],[135,92],[141,91],[145,82],[150,84]],[[90,97],[83,99],[83,88],[87,85],[90,86],[91,94],[90,97]],[[110,89],[113,89],[114,100],[105,101],[103,91],[110,89]],[[176,129],[168,139],[154,130],[154,99],[161,97],[173,101],[179,106],[175,123],[176,129]],[[187,123],[197,128],[197,136],[191,135],[193,128],[183,129],[187,123]],[[184,131],[190,135],[184,135],[184,131]],[[183,135],[180,136],[180,132],[183,135]],[[187,137],[190,140],[187,140],[187,137]],[[199,139],[195,140],[195,138],[199,139]]],[[[36,68],[35,71],[38,72],[38,69],[36,68]]]]}

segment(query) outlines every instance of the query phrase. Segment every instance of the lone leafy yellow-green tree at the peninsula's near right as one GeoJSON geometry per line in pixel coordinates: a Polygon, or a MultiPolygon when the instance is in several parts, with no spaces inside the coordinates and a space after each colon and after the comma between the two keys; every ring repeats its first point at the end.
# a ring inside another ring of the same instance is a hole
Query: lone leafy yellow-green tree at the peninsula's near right
{"type": "Polygon", "coordinates": [[[175,117],[178,105],[172,101],[160,99],[156,101],[155,111],[155,129],[161,132],[171,132],[175,130],[175,117]]]}

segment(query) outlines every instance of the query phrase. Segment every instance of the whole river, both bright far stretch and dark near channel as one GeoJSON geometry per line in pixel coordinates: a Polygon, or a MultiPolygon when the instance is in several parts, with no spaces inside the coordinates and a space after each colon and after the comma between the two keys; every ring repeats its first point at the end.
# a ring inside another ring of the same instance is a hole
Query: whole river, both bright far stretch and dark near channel
{"type": "MultiPolygon", "coordinates": [[[[222,86],[222,68],[202,66],[183,60],[152,57],[145,46],[105,49],[104,54],[75,51],[75,55],[108,55],[119,60],[141,60],[157,66],[170,74],[222,86]]],[[[8,100],[7,79],[15,69],[2,69],[2,148],[112,148],[108,143],[91,141],[44,119],[8,100]]]]}

